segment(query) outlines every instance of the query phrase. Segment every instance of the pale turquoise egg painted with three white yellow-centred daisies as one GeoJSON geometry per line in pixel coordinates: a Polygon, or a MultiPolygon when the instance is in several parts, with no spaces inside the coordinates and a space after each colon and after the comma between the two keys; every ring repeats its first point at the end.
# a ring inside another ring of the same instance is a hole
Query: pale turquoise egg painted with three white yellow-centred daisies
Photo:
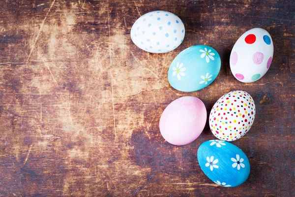
{"type": "Polygon", "coordinates": [[[217,77],[221,66],[215,49],[206,45],[195,45],[181,51],[168,70],[170,85],[182,92],[201,90],[217,77]]]}

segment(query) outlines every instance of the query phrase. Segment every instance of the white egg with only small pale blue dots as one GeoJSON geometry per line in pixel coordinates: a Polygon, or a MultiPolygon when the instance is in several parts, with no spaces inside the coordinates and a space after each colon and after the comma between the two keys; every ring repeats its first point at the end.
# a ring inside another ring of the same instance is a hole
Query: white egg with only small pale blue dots
{"type": "Polygon", "coordinates": [[[166,53],[177,48],[185,34],[181,19],[167,11],[152,11],[141,16],[131,28],[136,46],[150,53],[166,53]]]}

